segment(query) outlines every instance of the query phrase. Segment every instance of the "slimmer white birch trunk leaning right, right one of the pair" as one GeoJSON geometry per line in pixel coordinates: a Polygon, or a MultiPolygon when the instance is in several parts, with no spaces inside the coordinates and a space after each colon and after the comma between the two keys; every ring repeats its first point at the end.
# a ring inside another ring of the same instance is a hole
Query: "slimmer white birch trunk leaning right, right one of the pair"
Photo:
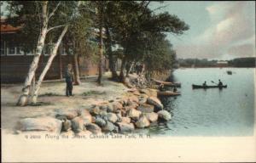
{"type": "Polygon", "coordinates": [[[61,44],[61,40],[62,38],[65,36],[66,32],[67,32],[67,29],[68,29],[68,25],[66,25],[63,29],[63,31],[61,32],[61,35],[60,37],[58,38],[58,41],[55,43],[55,46],[49,56],[49,59],[47,61],[47,64],[45,65],[44,67],[44,70],[43,72],[41,73],[41,75],[39,76],[39,79],[38,79],[38,82],[34,88],[34,93],[33,93],[33,97],[32,97],[32,104],[36,104],[37,101],[38,101],[38,92],[39,92],[39,89],[41,87],[41,84],[42,82],[44,81],[44,76],[46,75],[47,71],[49,70],[49,67],[53,61],[53,59],[55,59],[55,56],[57,54],[57,50],[61,44]]]}

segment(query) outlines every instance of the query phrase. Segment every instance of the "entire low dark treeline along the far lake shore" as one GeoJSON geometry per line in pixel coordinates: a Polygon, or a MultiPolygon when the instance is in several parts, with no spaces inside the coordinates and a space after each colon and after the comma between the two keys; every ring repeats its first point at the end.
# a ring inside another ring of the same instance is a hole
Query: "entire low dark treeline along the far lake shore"
{"type": "MultiPolygon", "coordinates": [[[[256,58],[236,58],[231,60],[224,60],[227,62],[226,66],[231,67],[255,67],[256,58]]],[[[218,67],[218,60],[208,60],[208,59],[177,59],[179,67],[218,67]]],[[[224,66],[224,65],[223,65],[224,66]]]]}

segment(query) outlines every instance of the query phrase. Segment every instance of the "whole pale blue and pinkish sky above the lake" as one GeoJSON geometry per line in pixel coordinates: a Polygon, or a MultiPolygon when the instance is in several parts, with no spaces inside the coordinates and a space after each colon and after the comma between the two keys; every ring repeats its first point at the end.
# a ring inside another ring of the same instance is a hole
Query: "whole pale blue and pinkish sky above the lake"
{"type": "Polygon", "coordinates": [[[190,29],[182,36],[168,33],[177,58],[234,59],[255,57],[255,2],[152,2],[155,13],[176,14],[190,29]]]}

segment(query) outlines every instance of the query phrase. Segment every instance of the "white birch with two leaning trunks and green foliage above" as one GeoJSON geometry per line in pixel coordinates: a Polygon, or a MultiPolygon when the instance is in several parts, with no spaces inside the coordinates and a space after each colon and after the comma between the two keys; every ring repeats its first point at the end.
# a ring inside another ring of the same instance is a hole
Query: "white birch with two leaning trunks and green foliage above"
{"type": "MultiPolygon", "coordinates": [[[[49,70],[49,66],[52,63],[52,60],[55,58],[59,45],[61,43],[62,38],[65,36],[69,23],[72,22],[73,18],[77,16],[79,2],[63,2],[63,1],[55,1],[55,2],[9,2],[10,5],[10,17],[9,20],[13,22],[19,22],[24,24],[23,28],[26,29],[26,26],[33,26],[35,31],[40,30],[40,34],[38,37],[38,44],[36,48],[36,53],[34,54],[34,58],[32,61],[32,65],[28,71],[26,76],[26,81],[24,87],[22,89],[22,95],[18,100],[18,105],[24,106],[28,102],[28,95],[29,95],[29,87],[31,87],[32,78],[35,76],[35,71],[38,68],[38,61],[40,55],[44,48],[44,42],[46,40],[46,35],[49,35],[49,31],[55,31],[57,28],[63,28],[60,32],[51,32],[49,38],[55,38],[57,41],[55,42],[47,64],[44,67],[43,72],[39,76],[38,82],[36,83],[34,93],[32,94],[32,103],[37,102],[38,98],[38,91],[41,86],[41,83],[44,80],[44,76],[49,70]],[[33,7],[41,7],[34,9],[33,7]],[[50,12],[49,12],[50,11],[50,12]],[[15,16],[14,16],[15,15],[15,16]],[[32,21],[33,20],[33,21],[32,21]],[[43,21],[41,21],[43,20],[43,21]],[[42,23],[42,27],[40,24],[42,23]],[[39,24],[39,25],[38,25],[39,24]],[[50,26],[50,27],[49,27],[50,26]]],[[[27,31],[24,30],[24,31],[27,31]]],[[[23,33],[25,36],[29,33],[23,33]]]]}

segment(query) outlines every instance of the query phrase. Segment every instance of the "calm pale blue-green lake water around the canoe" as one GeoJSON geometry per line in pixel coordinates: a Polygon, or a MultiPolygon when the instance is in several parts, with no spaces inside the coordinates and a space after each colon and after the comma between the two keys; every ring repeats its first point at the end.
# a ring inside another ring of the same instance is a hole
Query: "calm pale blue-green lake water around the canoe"
{"type": "Polygon", "coordinates": [[[177,98],[163,98],[172,121],[148,129],[154,135],[168,136],[249,136],[254,124],[255,69],[179,69],[174,80],[182,82],[177,98]],[[232,70],[228,75],[226,70],[232,70]],[[191,85],[222,82],[228,88],[195,89],[191,85]]]}

